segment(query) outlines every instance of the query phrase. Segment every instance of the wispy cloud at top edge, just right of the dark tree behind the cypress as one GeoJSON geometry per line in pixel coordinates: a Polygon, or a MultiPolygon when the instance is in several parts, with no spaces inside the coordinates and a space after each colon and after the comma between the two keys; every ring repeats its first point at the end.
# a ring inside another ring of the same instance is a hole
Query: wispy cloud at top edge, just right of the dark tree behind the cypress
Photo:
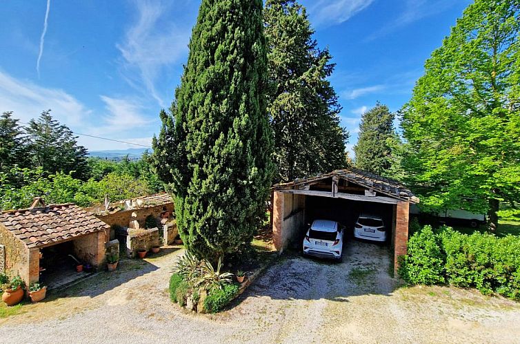
{"type": "Polygon", "coordinates": [[[374,0],[318,0],[309,6],[312,23],[315,26],[332,26],[352,18],[374,0]]]}

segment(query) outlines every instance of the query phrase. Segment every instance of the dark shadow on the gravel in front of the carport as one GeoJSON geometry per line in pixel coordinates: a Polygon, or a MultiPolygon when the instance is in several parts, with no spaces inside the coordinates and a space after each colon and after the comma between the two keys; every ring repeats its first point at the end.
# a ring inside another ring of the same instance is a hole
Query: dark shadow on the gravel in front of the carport
{"type": "Polygon", "coordinates": [[[344,303],[352,296],[390,296],[401,283],[388,274],[389,266],[390,249],[370,242],[349,241],[343,262],[303,257],[297,251],[289,251],[240,299],[327,299],[344,303]]]}

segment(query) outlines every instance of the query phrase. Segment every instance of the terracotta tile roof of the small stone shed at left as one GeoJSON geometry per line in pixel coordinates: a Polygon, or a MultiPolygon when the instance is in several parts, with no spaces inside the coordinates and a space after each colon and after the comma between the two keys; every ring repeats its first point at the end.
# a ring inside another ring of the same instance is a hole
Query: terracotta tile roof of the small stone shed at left
{"type": "Polygon", "coordinates": [[[59,204],[0,213],[0,224],[28,247],[41,247],[110,226],[75,204],[59,204]]]}

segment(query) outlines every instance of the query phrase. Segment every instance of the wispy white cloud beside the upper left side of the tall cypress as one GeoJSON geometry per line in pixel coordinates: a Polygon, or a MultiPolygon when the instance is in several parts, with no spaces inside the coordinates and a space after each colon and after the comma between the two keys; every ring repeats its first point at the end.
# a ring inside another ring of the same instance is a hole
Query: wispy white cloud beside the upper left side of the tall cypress
{"type": "Polygon", "coordinates": [[[161,69],[178,62],[188,51],[190,28],[172,21],[168,5],[161,1],[136,1],[137,21],[128,28],[125,39],[117,48],[123,57],[127,81],[137,88],[144,86],[151,97],[164,106],[155,83],[161,69]],[[139,76],[135,78],[136,74],[139,76]]]}

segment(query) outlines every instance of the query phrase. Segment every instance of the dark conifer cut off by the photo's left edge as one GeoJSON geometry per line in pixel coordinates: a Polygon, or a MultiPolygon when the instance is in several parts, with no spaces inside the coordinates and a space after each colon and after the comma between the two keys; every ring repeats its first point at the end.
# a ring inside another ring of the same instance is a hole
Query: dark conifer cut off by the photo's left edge
{"type": "Polygon", "coordinates": [[[8,172],[14,165],[26,166],[26,138],[18,121],[12,118],[12,111],[0,116],[0,172],[8,172]]]}

